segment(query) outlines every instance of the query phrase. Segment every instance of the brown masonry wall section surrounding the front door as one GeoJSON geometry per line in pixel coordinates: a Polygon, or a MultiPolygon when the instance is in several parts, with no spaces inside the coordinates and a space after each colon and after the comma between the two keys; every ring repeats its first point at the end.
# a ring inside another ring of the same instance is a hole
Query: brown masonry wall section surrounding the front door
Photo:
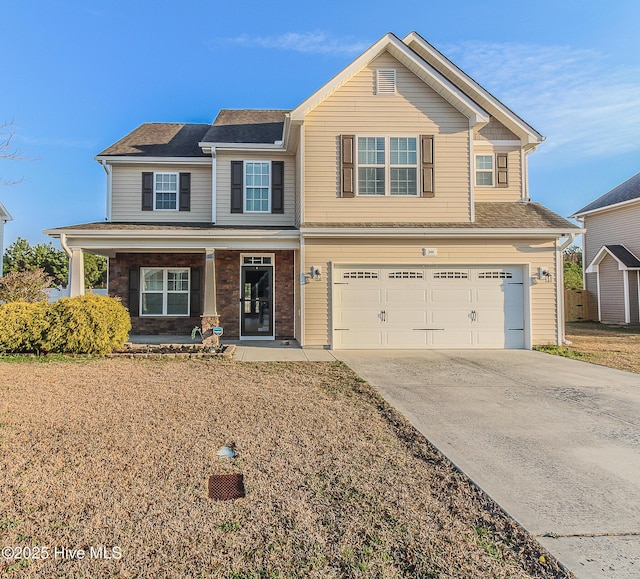
{"type": "Polygon", "coordinates": [[[294,311],[294,252],[289,250],[251,252],[216,250],[216,289],[220,325],[224,338],[240,336],[240,254],[275,254],[275,332],[277,339],[291,339],[295,335],[294,311]]]}

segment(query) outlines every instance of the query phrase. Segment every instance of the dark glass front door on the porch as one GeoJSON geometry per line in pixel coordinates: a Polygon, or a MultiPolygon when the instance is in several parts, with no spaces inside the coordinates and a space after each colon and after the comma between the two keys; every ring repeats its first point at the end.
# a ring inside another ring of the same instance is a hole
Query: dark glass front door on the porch
{"type": "Polygon", "coordinates": [[[240,337],[273,339],[273,267],[243,265],[240,337]]]}

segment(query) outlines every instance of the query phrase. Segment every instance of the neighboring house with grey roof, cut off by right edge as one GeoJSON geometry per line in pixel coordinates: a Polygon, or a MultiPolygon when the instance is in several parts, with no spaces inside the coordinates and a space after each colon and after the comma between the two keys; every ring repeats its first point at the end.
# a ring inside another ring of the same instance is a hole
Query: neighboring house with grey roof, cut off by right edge
{"type": "Polygon", "coordinates": [[[640,323],[640,173],[572,217],[586,229],[585,287],[598,320],[640,323]]]}

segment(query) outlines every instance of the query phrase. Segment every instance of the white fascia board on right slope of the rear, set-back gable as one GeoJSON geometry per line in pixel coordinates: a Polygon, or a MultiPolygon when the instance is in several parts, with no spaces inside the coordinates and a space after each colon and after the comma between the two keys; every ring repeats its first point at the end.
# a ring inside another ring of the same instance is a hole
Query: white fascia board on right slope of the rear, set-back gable
{"type": "Polygon", "coordinates": [[[496,97],[494,97],[489,91],[479,85],[462,69],[458,68],[438,49],[436,49],[424,38],[422,38],[422,36],[420,36],[416,32],[411,32],[402,39],[402,42],[406,44],[410,49],[414,50],[426,62],[429,62],[429,60],[432,59],[446,68],[451,76],[456,80],[456,82],[458,82],[463,87],[463,90],[467,89],[471,93],[475,92],[479,96],[483,97],[493,109],[489,112],[500,122],[506,120],[508,124],[512,124],[512,126],[516,127],[516,134],[522,139],[525,144],[539,144],[545,140],[545,137],[543,135],[541,135],[531,125],[529,125],[526,121],[516,115],[511,109],[509,109],[509,107],[501,103],[496,97]]]}

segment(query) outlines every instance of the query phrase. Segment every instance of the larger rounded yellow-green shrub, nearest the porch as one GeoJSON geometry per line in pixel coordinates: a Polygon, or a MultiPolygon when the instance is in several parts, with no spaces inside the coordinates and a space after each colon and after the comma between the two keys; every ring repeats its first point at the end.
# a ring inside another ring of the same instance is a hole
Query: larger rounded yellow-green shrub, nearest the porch
{"type": "Polygon", "coordinates": [[[87,294],[49,305],[42,349],[67,354],[106,354],[121,348],[131,329],[129,312],[116,298],[87,294]]]}

